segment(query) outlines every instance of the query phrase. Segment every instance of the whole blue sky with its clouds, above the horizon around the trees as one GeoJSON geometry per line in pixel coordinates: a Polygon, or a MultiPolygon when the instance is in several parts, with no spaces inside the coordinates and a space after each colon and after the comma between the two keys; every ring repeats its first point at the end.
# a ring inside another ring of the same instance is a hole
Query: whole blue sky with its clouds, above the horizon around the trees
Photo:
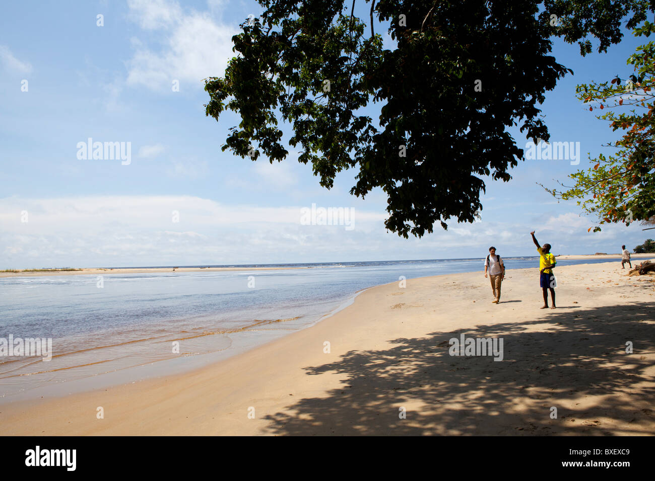
{"type": "MultiPolygon", "coordinates": [[[[555,254],[616,253],[645,240],[638,224],[588,233],[575,202],[536,184],[565,181],[588,166],[586,152],[607,153],[601,145],[615,134],[575,98],[575,86],[632,73],[626,58],[643,42],[629,33],[586,58],[555,41],[555,58],[574,75],[546,94],[543,114],[551,141],[580,142],[579,166],[521,162],[509,183],[487,181],[481,221],[451,219],[447,231],[405,240],[384,229],[381,190],[365,200],[348,194],[354,171],[326,190],[293,149],[274,165],[221,152],[239,120],[204,115],[202,79],[222,75],[238,24],[259,12],[253,1],[223,0],[3,5],[0,268],[484,257],[492,244],[508,257],[534,254],[531,230],[555,254]],[[130,163],[79,159],[88,137],[130,142],[130,163]],[[353,228],[303,225],[301,209],[312,204],[354,208],[353,228]]],[[[510,132],[524,147],[518,129],[510,132]]]]}

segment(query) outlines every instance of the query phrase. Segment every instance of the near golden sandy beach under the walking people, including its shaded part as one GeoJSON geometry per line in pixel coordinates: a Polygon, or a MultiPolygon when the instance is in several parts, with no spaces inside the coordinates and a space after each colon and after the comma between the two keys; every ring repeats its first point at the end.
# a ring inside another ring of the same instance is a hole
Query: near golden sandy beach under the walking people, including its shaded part
{"type": "Polygon", "coordinates": [[[313,327],[187,374],[1,404],[0,425],[3,435],[654,435],[655,276],[628,277],[618,262],[556,274],[556,310],[540,310],[537,268],[508,271],[498,305],[482,272],[373,287],[313,327]],[[449,355],[460,334],[502,338],[502,361],[449,355]]]}

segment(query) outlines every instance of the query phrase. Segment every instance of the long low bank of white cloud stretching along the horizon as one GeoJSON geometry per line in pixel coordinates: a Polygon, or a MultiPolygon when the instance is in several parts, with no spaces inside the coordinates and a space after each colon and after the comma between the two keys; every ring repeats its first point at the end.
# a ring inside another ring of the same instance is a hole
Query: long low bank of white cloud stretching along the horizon
{"type": "MultiPolygon", "coordinates": [[[[536,252],[529,235],[533,223],[516,219],[451,223],[447,231],[435,226],[433,234],[405,240],[386,232],[383,210],[355,209],[349,231],[301,225],[301,208],[311,202],[267,207],[196,196],[0,198],[0,268],[483,258],[489,245],[503,257],[536,252]],[[28,211],[28,223],[21,222],[22,211],[28,211]]],[[[641,226],[610,225],[588,234],[588,224],[572,230],[567,225],[575,213],[534,214],[539,241],[551,243],[555,254],[618,252],[622,243],[645,239],[641,226]]]]}

